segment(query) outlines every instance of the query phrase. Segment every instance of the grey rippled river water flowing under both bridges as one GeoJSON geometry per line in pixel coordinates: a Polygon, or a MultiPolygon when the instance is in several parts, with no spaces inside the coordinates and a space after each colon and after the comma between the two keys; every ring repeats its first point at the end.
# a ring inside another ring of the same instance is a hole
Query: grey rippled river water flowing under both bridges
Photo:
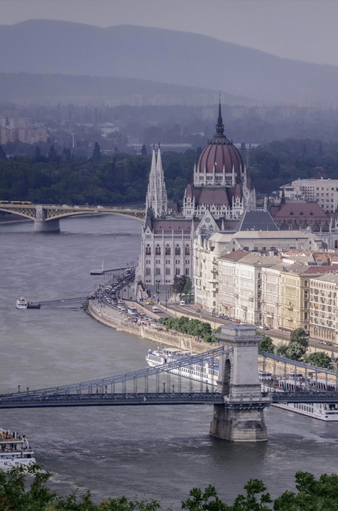
{"type": "MultiPolygon", "coordinates": [[[[116,333],[83,311],[15,308],[29,301],[82,296],[102,281],[100,267],[136,262],[141,222],[116,216],[60,222],[60,234],[31,222],[0,224],[0,392],[49,387],[146,366],[153,344],[116,333]]],[[[230,503],[249,478],[276,496],[294,488],[297,470],[337,470],[338,423],[268,409],[266,443],[209,437],[212,407],[93,407],[0,412],[0,426],[28,436],[36,459],[65,494],[82,485],[94,500],[127,495],[180,509],[194,486],[215,485],[230,503]]]]}

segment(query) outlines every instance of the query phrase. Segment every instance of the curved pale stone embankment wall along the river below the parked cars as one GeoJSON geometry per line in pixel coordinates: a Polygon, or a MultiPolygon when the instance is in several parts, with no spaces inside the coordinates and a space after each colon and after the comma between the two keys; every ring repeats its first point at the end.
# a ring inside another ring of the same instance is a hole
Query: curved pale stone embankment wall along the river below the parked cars
{"type": "MultiPolygon", "coordinates": [[[[138,306],[141,311],[141,306],[138,306]]],[[[104,325],[116,328],[117,331],[138,335],[138,337],[152,340],[154,343],[162,343],[180,350],[192,350],[194,353],[203,353],[208,349],[207,343],[197,342],[191,335],[183,335],[177,332],[159,330],[160,326],[154,323],[141,321],[141,324],[131,323],[125,313],[120,313],[116,308],[99,303],[97,300],[89,300],[89,314],[104,325]]]]}

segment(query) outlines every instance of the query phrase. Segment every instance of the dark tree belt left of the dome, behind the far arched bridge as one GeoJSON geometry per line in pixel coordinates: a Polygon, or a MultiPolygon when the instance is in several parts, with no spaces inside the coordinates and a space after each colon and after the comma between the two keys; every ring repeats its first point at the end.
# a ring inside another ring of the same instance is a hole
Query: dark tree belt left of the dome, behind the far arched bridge
{"type": "MultiPolygon", "coordinates": [[[[50,146],[47,157],[40,145],[30,149],[31,156],[0,158],[1,200],[70,205],[144,203],[151,156],[116,151],[112,156],[87,158],[71,155],[69,148],[58,155],[55,146],[50,146]]],[[[168,198],[182,198],[195,161],[195,151],[191,150],[163,154],[168,198]],[[172,164],[178,167],[175,178],[172,164]]]]}

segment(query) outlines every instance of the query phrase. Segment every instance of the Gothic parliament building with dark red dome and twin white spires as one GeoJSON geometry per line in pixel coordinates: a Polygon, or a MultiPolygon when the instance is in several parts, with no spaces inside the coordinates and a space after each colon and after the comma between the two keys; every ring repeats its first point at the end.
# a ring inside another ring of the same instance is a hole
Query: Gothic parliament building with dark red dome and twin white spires
{"type": "Polygon", "coordinates": [[[234,230],[244,212],[254,208],[255,190],[239,151],[224,134],[219,104],[216,134],[200,154],[194,182],[171,210],[160,147],[157,154],[153,149],[136,282],[148,287],[171,285],[175,276],[192,280],[195,237],[234,230]]]}

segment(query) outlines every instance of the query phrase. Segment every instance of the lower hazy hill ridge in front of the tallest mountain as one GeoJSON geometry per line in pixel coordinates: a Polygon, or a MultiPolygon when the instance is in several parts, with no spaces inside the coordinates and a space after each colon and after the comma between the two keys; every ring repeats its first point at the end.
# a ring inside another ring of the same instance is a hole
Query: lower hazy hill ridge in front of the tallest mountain
{"type": "MultiPolygon", "coordinates": [[[[170,85],[151,80],[135,78],[75,76],[75,75],[32,75],[26,72],[0,72],[0,100],[29,104],[56,104],[75,102],[77,104],[184,104],[200,105],[216,102],[218,91],[170,85]]],[[[227,104],[254,102],[245,97],[222,94],[227,104]]]]}

